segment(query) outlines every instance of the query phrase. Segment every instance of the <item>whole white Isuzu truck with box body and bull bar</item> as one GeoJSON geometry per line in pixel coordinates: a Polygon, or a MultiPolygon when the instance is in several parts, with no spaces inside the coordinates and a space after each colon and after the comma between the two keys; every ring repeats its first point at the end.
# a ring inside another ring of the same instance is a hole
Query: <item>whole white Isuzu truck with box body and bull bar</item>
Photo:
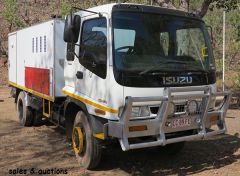
{"type": "Polygon", "coordinates": [[[215,70],[205,23],[177,10],[106,4],[9,34],[21,125],[46,118],[65,128],[88,169],[116,139],[123,151],[176,153],[225,133],[231,93],[216,92],[215,70]]]}

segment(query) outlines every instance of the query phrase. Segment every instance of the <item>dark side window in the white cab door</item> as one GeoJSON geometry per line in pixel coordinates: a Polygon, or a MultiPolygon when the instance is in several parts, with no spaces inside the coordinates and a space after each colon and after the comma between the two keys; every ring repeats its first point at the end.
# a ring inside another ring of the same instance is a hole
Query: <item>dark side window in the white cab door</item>
{"type": "Polygon", "coordinates": [[[105,18],[83,23],[80,43],[80,63],[105,79],[107,75],[107,21],[105,18]]]}

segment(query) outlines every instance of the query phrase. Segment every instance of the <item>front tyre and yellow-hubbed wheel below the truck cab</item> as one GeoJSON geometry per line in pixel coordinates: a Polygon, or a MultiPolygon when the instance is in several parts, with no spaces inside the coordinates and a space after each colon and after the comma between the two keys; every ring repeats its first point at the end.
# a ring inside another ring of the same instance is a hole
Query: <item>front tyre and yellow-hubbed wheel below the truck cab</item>
{"type": "Polygon", "coordinates": [[[72,131],[73,149],[80,165],[94,169],[101,159],[102,146],[93,137],[93,131],[88,117],[82,111],[76,115],[72,131]]]}

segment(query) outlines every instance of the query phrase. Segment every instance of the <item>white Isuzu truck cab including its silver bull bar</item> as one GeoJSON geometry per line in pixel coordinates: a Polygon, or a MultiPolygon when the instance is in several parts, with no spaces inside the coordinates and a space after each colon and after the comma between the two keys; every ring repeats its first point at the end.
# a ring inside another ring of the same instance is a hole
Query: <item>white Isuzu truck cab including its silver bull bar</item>
{"type": "Polygon", "coordinates": [[[108,4],[69,15],[64,39],[63,93],[98,121],[98,139],[127,151],[225,133],[230,93],[216,92],[211,37],[194,14],[108,4]]]}

